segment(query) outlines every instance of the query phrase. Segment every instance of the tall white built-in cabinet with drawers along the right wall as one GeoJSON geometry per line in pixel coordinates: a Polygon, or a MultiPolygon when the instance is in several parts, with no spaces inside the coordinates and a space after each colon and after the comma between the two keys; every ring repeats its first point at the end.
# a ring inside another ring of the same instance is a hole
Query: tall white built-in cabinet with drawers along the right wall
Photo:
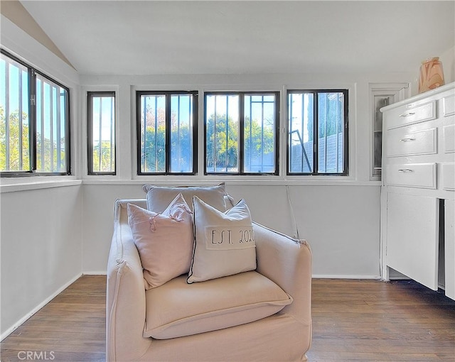
{"type": "Polygon", "coordinates": [[[455,299],[455,84],[381,111],[382,276],[392,268],[455,299]]]}

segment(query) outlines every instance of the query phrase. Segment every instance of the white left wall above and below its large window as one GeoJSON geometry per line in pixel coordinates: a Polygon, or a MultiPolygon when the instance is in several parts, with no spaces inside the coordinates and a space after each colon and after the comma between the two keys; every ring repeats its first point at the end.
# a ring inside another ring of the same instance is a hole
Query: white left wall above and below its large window
{"type": "MultiPolygon", "coordinates": [[[[70,88],[79,117],[73,68],[1,16],[1,45],[70,88]]],[[[75,135],[75,127],[72,129],[75,135]]],[[[73,155],[76,155],[73,142],[73,155]]],[[[77,157],[73,158],[73,165],[77,157]]],[[[82,186],[75,176],[0,180],[1,338],[82,273],[82,186]]]]}

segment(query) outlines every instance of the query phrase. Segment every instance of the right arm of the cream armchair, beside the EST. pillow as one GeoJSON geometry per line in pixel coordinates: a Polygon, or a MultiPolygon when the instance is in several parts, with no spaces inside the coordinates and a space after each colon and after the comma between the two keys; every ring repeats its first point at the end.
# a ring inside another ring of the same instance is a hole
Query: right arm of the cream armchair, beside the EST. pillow
{"type": "Polygon", "coordinates": [[[253,223],[257,271],[277,283],[294,301],[284,307],[305,325],[311,325],[311,248],[304,240],[290,238],[253,223]]]}

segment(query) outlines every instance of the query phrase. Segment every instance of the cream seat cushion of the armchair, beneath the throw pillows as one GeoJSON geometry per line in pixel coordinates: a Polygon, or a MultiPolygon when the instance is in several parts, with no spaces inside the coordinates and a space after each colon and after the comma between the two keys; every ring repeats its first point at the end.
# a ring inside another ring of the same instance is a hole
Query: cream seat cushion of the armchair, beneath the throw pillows
{"type": "Polygon", "coordinates": [[[171,339],[246,324],[292,302],[277,284],[255,271],[192,285],[185,279],[182,275],[146,291],[144,337],[171,339]]]}

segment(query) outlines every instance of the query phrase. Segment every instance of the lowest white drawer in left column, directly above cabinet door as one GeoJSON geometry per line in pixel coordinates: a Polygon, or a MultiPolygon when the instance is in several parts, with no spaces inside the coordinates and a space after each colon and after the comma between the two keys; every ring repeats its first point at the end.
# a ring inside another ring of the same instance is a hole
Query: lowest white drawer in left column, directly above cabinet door
{"type": "Polygon", "coordinates": [[[436,189],[436,163],[387,165],[387,185],[436,189]]]}

